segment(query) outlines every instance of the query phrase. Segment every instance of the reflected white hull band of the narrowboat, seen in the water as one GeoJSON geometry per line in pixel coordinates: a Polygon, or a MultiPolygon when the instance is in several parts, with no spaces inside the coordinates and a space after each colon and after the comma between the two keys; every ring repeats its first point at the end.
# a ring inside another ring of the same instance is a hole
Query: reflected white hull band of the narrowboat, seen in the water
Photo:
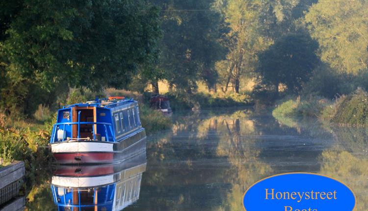
{"type": "Polygon", "coordinates": [[[93,187],[114,183],[114,175],[101,177],[59,177],[53,176],[52,185],[63,187],[93,187]]]}

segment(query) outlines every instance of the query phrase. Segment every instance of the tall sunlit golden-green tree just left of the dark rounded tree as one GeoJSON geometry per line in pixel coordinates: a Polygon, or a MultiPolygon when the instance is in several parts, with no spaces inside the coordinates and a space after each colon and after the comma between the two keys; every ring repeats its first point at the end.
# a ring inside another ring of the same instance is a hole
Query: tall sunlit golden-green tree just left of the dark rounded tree
{"type": "MultiPolygon", "coordinates": [[[[226,60],[217,65],[217,71],[226,93],[229,83],[239,92],[240,78],[251,75],[257,62],[257,53],[265,50],[272,39],[264,29],[269,26],[263,20],[270,4],[262,4],[260,0],[228,0],[224,3],[223,15],[231,30],[224,43],[229,49],[226,60]]],[[[269,17],[267,17],[267,20],[269,17]]]]}

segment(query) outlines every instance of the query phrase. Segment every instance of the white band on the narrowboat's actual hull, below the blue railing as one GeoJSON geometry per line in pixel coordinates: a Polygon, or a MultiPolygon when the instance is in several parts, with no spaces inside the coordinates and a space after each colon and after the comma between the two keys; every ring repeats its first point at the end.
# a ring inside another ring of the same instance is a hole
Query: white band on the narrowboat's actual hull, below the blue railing
{"type": "Polygon", "coordinates": [[[101,142],[62,142],[51,145],[53,153],[73,153],[73,152],[113,152],[112,143],[101,142]]]}

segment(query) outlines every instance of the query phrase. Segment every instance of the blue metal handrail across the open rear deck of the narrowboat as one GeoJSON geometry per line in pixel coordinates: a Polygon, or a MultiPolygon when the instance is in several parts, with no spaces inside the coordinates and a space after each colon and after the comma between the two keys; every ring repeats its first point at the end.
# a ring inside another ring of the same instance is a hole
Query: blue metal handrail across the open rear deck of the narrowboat
{"type": "MultiPolygon", "coordinates": [[[[78,118],[79,120],[79,118],[78,118]]],[[[63,122],[63,123],[56,123],[53,126],[53,132],[51,135],[51,141],[50,143],[54,143],[54,142],[59,142],[59,141],[55,141],[56,140],[56,133],[57,130],[60,129],[60,126],[63,126],[63,138],[60,142],[65,141],[65,126],[69,126],[69,125],[78,125],[78,136],[77,136],[77,141],[80,139],[80,125],[103,125],[104,129],[105,129],[105,135],[106,135],[106,141],[108,142],[116,142],[115,141],[115,137],[114,137],[114,133],[112,130],[112,124],[111,123],[107,123],[107,122],[63,122]],[[108,130],[107,130],[108,127],[108,130]],[[110,138],[112,137],[112,140],[110,140],[110,138]]],[[[95,131],[95,127],[92,127],[92,133],[93,133],[93,140],[96,140],[96,131],[95,131]]]]}

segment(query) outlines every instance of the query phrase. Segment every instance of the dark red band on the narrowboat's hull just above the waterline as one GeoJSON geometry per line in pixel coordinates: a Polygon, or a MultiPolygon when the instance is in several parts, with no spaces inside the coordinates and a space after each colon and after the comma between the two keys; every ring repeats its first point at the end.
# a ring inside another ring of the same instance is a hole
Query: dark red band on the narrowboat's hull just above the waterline
{"type": "Polygon", "coordinates": [[[106,163],[114,161],[113,153],[54,153],[53,156],[61,164],[106,163]]]}

